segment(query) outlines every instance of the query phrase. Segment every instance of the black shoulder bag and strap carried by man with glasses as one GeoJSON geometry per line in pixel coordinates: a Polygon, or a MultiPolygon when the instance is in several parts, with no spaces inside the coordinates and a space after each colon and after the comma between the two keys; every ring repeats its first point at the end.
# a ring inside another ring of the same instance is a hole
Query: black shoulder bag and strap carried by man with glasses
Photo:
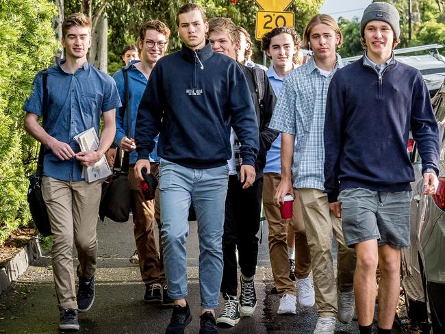
{"type": "MultiPolygon", "coordinates": [[[[127,137],[130,138],[130,110],[127,70],[122,70],[125,82],[125,106],[127,108],[127,137]]],[[[127,222],[131,207],[131,186],[128,181],[129,153],[124,152],[122,164],[120,164],[120,149],[116,151],[113,174],[102,183],[101,205],[99,206],[99,218],[105,217],[114,222],[127,222]]]]}

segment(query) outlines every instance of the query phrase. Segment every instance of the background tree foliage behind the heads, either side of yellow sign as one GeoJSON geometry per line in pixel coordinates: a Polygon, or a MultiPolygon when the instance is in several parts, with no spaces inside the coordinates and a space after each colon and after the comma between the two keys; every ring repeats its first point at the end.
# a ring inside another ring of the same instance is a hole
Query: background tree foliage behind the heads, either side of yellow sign
{"type": "MultiPolygon", "coordinates": [[[[225,16],[232,19],[236,25],[241,25],[255,37],[256,12],[260,8],[255,0],[94,0],[92,12],[101,6],[107,6],[109,25],[109,73],[123,65],[120,52],[129,43],[135,43],[138,38],[139,27],[142,23],[155,18],[163,21],[171,29],[168,52],[181,47],[176,27],[176,12],[188,2],[196,2],[203,6],[207,18],[225,16]]],[[[325,0],[295,0],[287,9],[295,13],[295,27],[301,34],[309,18],[318,13],[318,8],[325,0]]],[[[66,0],[65,15],[80,10],[81,0],[66,0]]],[[[255,41],[254,57],[259,58],[259,42],[255,41]]]]}

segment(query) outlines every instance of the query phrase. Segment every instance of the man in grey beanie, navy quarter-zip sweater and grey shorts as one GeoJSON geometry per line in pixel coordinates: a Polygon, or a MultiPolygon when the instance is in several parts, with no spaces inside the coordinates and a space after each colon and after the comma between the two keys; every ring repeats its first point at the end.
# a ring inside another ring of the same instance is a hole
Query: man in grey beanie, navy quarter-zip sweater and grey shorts
{"type": "Polygon", "coordinates": [[[327,95],[325,192],[355,248],[355,304],[361,334],[372,333],[380,268],[377,333],[391,333],[400,292],[401,249],[409,248],[411,129],[422,158],[424,194],[435,194],[437,121],[418,70],[394,59],[399,14],[389,3],[368,5],[361,18],[361,59],[338,70],[327,95]],[[341,143],[341,144],[339,144],[341,143]],[[340,193],[340,194],[339,194],[340,193]]]}

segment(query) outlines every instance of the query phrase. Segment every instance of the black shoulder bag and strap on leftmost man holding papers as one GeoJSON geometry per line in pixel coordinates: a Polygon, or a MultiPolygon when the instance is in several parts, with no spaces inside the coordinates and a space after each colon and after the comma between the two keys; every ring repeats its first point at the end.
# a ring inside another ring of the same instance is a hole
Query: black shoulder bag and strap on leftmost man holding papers
{"type": "MultiPolygon", "coordinates": [[[[46,114],[46,102],[47,102],[47,76],[46,70],[42,71],[42,86],[43,86],[43,103],[42,103],[42,114],[43,114],[43,124],[45,121],[46,114]]],[[[38,153],[38,162],[36,173],[30,175],[29,187],[27,194],[27,201],[29,203],[29,211],[31,212],[32,220],[40,234],[47,237],[51,234],[51,223],[49,222],[47,205],[43,201],[42,196],[42,175],[43,175],[43,154],[44,146],[40,145],[40,151],[38,153]]]]}

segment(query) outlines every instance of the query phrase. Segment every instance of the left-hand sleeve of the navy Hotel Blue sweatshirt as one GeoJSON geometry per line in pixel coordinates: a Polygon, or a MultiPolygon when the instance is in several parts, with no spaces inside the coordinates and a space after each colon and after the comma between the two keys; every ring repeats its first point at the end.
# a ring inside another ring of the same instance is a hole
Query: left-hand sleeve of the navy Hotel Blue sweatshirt
{"type": "Polygon", "coordinates": [[[151,71],[147,87],[139,103],[134,140],[139,159],[149,159],[155,148],[154,138],[160,132],[164,114],[162,101],[162,66],[157,64],[151,71]]]}

